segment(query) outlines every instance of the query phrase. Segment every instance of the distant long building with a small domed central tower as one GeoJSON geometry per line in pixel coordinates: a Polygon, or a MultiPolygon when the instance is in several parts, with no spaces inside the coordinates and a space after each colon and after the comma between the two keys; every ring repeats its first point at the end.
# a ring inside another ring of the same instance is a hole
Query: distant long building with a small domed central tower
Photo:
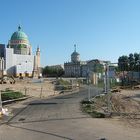
{"type": "Polygon", "coordinates": [[[102,78],[105,71],[105,64],[109,61],[98,59],[80,61],[80,54],[76,51],[71,54],[71,62],[64,63],[65,77],[85,77],[91,79],[92,83],[97,84],[97,80],[102,78]]]}

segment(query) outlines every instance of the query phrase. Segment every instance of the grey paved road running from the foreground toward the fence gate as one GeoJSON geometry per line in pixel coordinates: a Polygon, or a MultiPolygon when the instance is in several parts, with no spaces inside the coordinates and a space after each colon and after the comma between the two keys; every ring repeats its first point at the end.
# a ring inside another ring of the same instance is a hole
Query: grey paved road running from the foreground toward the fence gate
{"type": "MultiPolygon", "coordinates": [[[[98,94],[92,89],[92,95],[98,94]]],[[[92,119],[80,110],[79,102],[87,97],[87,89],[53,99],[24,103],[7,124],[0,126],[0,140],[138,140],[133,133],[124,134],[100,119],[92,119]]],[[[118,128],[120,129],[120,128],[118,128]]],[[[121,128],[122,129],[122,128],[121,128]]]]}

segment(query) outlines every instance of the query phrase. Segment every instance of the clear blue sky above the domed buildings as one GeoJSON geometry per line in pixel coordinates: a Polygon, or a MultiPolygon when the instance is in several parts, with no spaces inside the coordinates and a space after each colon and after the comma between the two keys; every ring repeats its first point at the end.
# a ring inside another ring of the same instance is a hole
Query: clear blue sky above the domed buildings
{"type": "Polygon", "coordinates": [[[0,9],[0,43],[20,23],[42,66],[70,61],[74,44],[81,60],[140,52],[140,0],[0,0],[0,9]]]}

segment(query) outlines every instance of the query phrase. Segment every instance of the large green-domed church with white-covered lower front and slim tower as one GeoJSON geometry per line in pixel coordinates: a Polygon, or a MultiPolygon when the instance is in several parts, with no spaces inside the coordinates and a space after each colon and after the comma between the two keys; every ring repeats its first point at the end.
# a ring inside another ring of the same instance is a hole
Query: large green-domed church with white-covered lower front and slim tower
{"type": "Polygon", "coordinates": [[[21,30],[21,26],[14,32],[7,47],[0,44],[0,71],[14,77],[39,77],[40,49],[32,54],[28,36],[21,30]]]}

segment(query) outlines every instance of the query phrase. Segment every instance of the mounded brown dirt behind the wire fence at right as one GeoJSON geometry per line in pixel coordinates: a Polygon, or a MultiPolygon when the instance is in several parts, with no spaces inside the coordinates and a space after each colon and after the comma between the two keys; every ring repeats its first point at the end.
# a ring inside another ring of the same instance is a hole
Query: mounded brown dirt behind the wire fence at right
{"type": "Polygon", "coordinates": [[[94,99],[93,110],[111,112],[110,120],[140,129],[140,89],[121,89],[108,96],[94,99]],[[110,105],[108,105],[108,103],[110,105]]]}

